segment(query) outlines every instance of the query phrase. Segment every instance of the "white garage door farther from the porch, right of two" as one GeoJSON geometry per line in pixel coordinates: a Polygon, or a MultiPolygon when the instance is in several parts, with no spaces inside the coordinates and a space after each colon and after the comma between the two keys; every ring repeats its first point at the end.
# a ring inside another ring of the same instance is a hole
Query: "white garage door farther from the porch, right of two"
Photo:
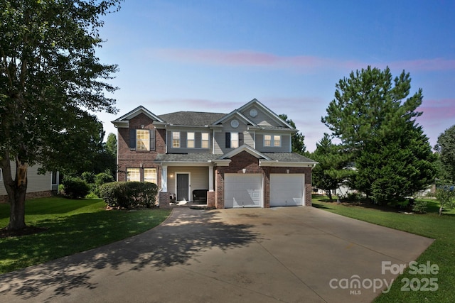
{"type": "Polygon", "coordinates": [[[304,205],[304,174],[270,174],[270,206],[304,205]]]}

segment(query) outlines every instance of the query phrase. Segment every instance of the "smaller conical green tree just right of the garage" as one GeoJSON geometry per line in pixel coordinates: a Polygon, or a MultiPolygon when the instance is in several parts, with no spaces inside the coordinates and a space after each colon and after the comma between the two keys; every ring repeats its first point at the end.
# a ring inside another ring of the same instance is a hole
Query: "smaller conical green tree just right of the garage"
{"type": "Polygon", "coordinates": [[[350,169],[350,154],[345,153],[341,145],[333,144],[330,136],[324,133],[321,141],[316,143],[316,150],[311,158],[318,162],[312,172],[313,184],[323,189],[332,201],[331,189],[345,184],[353,170],[350,169]]]}

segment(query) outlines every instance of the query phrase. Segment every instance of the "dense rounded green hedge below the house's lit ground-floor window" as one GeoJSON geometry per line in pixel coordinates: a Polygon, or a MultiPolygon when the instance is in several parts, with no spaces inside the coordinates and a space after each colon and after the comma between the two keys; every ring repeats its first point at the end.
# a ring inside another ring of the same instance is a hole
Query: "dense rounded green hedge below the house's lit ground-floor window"
{"type": "Polygon", "coordinates": [[[100,197],[112,208],[155,207],[158,187],[150,182],[109,182],[100,187],[100,197]]]}

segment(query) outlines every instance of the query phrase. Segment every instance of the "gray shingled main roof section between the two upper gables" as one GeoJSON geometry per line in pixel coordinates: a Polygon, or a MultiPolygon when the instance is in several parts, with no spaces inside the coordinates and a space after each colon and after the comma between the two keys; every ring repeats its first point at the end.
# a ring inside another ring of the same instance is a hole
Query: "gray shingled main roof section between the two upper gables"
{"type": "Polygon", "coordinates": [[[160,115],[169,124],[184,126],[207,126],[226,116],[221,113],[203,113],[199,111],[177,111],[176,113],[160,115]]]}

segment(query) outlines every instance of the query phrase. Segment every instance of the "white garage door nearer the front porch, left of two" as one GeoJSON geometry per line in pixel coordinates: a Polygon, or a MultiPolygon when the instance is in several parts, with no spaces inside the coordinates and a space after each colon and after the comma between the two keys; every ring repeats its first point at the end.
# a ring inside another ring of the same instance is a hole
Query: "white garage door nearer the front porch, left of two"
{"type": "Polygon", "coordinates": [[[225,174],[225,208],[262,207],[262,175],[225,174]]]}

